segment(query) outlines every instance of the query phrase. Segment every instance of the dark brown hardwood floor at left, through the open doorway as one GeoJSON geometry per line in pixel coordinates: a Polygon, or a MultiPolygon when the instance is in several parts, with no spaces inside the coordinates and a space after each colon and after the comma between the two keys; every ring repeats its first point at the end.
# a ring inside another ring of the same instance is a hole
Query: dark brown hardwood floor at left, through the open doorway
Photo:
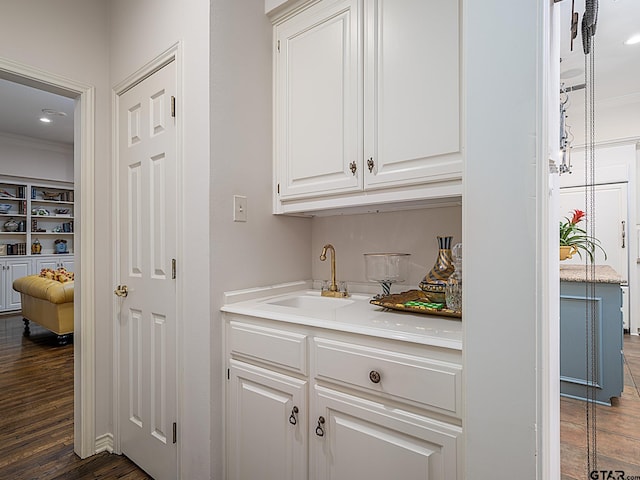
{"type": "Polygon", "coordinates": [[[150,479],[128,458],[73,452],[73,345],[20,316],[0,316],[0,479],[150,479]]]}

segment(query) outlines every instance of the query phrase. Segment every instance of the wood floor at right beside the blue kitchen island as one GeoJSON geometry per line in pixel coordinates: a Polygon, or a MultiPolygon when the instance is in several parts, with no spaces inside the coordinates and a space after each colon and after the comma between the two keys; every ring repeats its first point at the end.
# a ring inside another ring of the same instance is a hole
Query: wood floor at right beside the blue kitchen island
{"type": "MultiPolygon", "coordinates": [[[[640,337],[624,337],[624,391],[612,406],[596,408],[598,470],[624,471],[624,478],[640,479],[640,337]]],[[[560,400],[562,480],[590,478],[586,465],[586,403],[560,400]]],[[[597,478],[608,478],[607,476],[597,478]]],[[[621,478],[619,474],[610,478],[621,478]]]]}

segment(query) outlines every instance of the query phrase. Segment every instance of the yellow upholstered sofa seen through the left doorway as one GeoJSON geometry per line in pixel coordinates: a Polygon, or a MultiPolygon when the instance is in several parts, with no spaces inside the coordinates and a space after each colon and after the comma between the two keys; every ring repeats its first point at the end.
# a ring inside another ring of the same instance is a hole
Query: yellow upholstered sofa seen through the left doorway
{"type": "Polygon", "coordinates": [[[25,336],[30,334],[32,321],[58,335],[60,344],[66,344],[73,334],[73,282],[29,275],[14,280],[13,289],[20,292],[25,336]]]}

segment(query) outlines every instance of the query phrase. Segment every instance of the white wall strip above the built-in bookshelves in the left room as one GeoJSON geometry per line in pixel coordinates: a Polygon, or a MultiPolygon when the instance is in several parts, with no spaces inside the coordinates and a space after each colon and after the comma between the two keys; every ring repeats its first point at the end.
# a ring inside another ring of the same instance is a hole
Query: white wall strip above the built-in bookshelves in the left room
{"type": "Polygon", "coordinates": [[[73,146],[0,133],[0,175],[73,182],[73,146]]]}

